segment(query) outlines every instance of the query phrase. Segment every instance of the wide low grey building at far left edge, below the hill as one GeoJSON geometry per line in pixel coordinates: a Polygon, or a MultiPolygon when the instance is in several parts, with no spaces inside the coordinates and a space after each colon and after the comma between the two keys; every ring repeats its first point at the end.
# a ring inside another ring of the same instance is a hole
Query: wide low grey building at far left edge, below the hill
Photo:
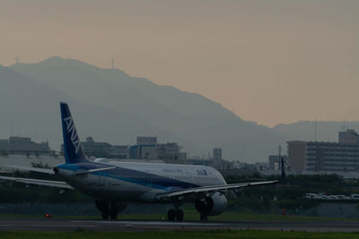
{"type": "Polygon", "coordinates": [[[34,142],[27,137],[10,137],[8,140],[0,140],[0,153],[20,155],[41,155],[51,152],[47,142],[34,142]]]}

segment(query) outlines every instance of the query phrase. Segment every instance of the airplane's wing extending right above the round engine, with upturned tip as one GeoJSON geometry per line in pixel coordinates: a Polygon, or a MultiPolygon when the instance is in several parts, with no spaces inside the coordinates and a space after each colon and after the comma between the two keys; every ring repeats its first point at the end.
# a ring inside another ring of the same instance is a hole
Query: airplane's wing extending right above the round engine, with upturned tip
{"type": "Polygon", "coordinates": [[[184,196],[190,193],[199,193],[199,192],[217,192],[221,190],[236,190],[243,187],[276,184],[278,182],[279,182],[278,180],[275,180],[275,181],[262,181],[262,182],[254,182],[254,183],[223,184],[223,185],[204,186],[197,188],[188,188],[188,189],[175,190],[171,192],[161,192],[157,194],[157,198],[158,199],[171,198],[171,197],[184,196]]]}

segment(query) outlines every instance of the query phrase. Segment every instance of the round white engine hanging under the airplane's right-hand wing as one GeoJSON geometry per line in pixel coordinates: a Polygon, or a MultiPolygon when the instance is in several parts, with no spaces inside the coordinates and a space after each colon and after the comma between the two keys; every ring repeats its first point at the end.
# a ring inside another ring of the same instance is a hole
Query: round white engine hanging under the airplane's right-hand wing
{"type": "Polygon", "coordinates": [[[222,192],[215,192],[212,196],[197,199],[195,207],[200,214],[215,216],[223,213],[227,207],[227,199],[222,192]]]}

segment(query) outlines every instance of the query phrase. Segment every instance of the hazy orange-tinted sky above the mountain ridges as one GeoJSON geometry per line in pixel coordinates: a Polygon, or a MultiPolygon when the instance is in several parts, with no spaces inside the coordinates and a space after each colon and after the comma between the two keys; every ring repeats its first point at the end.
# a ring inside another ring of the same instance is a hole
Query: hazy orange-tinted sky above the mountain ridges
{"type": "Polygon", "coordinates": [[[211,98],[245,120],[359,120],[359,1],[1,0],[0,64],[53,55],[211,98]]]}

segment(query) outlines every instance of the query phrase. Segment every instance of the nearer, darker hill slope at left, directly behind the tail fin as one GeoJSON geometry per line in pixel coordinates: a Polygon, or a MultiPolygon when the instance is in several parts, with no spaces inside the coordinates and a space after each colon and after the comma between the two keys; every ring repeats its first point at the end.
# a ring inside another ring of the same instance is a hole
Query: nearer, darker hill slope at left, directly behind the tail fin
{"type": "Polygon", "coordinates": [[[7,67],[0,66],[0,82],[1,139],[20,134],[37,141],[48,140],[52,149],[59,149],[62,143],[59,102],[66,101],[82,140],[93,136],[95,141],[130,144],[136,143],[136,135],[155,135],[185,142],[135,115],[79,102],[7,67]]]}

